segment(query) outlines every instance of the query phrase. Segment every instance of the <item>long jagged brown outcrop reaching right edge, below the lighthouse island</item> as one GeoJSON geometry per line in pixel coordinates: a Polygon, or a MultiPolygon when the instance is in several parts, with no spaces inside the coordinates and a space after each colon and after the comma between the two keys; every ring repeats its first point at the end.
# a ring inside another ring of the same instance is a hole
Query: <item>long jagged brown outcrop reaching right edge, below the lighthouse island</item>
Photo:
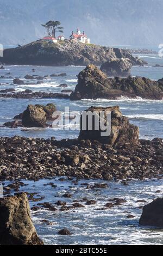
{"type": "Polygon", "coordinates": [[[78,75],[78,84],[71,100],[81,99],[136,99],[162,100],[163,80],[152,81],[145,77],[108,78],[94,65],[87,65],[78,75]]]}

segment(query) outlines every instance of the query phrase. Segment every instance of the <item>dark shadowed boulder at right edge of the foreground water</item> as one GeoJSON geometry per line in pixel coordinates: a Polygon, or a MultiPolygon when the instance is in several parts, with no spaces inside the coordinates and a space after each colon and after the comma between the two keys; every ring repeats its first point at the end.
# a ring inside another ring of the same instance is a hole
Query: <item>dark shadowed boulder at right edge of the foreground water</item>
{"type": "Polygon", "coordinates": [[[139,224],[163,227],[163,198],[157,198],[143,207],[139,224]]]}

